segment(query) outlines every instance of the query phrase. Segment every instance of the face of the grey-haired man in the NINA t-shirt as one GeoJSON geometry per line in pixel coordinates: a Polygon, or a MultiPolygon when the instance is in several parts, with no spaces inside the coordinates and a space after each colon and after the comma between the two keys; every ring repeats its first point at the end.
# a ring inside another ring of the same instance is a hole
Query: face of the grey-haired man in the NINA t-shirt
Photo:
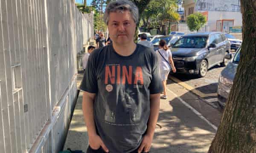
{"type": "Polygon", "coordinates": [[[108,31],[114,43],[124,45],[134,41],[136,23],[130,11],[111,12],[109,14],[108,31]]]}

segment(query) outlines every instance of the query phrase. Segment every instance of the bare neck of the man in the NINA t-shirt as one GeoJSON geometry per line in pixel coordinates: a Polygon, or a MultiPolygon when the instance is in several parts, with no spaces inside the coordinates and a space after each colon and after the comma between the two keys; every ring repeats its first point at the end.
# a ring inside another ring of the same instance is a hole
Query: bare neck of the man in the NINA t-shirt
{"type": "Polygon", "coordinates": [[[130,44],[119,45],[113,42],[113,48],[117,54],[122,56],[129,56],[135,51],[136,44],[131,42],[130,44]]]}

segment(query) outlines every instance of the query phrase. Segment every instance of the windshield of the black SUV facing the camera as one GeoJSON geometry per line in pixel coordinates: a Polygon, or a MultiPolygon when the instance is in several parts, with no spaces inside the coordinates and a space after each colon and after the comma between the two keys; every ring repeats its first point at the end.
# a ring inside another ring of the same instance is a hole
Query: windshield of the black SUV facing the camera
{"type": "Polygon", "coordinates": [[[182,37],[172,48],[204,48],[207,44],[207,37],[182,37]]]}

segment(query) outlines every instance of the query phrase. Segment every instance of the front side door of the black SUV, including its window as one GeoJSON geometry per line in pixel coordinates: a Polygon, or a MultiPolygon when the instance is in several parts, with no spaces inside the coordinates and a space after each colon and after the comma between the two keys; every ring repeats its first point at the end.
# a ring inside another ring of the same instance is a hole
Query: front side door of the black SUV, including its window
{"type": "Polygon", "coordinates": [[[211,35],[209,38],[208,46],[210,44],[216,44],[215,48],[209,48],[208,47],[208,65],[211,67],[216,62],[217,56],[218,56],[218,46],[217,46],[217,41],[215,35],[211,35]]]}

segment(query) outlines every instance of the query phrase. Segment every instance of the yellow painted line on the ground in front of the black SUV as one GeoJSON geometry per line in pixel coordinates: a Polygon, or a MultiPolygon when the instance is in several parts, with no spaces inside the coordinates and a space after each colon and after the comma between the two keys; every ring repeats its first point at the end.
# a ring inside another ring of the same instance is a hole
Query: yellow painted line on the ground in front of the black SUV
{"type": "Polygon", "coordinates": [[[173,76],[169,76],[170,79],[172,79],[174,82],[177,82],[178,85],[183,86],[184,88],[186,88],[189,91],[192,91],[192,93],[200,96],[201,98],[205,98],[205,97],[209,97],[209,96],[217,96],[217,93],[212,93],[212,94],[204,94],[201,91],[198,91],[197,89],[195,89],[194,87],[186,84],[185,82],[177,79],[176,77],[173,76]]]}

